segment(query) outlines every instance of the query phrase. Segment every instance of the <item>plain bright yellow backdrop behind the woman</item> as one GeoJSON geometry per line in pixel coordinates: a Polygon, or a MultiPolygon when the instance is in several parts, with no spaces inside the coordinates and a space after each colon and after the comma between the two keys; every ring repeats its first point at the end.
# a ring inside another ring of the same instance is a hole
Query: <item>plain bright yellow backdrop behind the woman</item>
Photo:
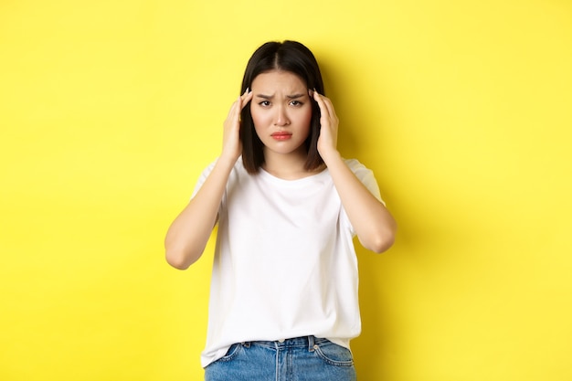
{"type": "Polygon", "coordinates": [[[572,379],[567,0],[3,0],[0,379],[201,379],[212,243],[173,270],[164,232],[284,38],[399,223],[359,378],[572,379]]]}

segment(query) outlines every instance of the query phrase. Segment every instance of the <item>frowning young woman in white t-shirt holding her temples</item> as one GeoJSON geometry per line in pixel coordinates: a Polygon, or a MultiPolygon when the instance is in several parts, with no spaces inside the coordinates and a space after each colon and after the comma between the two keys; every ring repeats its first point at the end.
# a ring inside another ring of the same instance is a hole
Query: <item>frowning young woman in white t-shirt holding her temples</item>
{"type": "Polygon", "coordinates": [[[308,48],[262,45],[241,93],[222,152],[165,238],[167,261],[184,270],[218,223],[206,380],[355,380],[353,237],[385,251],[395,221],[372,172],[338,152],[338,118],[308,48]]]}

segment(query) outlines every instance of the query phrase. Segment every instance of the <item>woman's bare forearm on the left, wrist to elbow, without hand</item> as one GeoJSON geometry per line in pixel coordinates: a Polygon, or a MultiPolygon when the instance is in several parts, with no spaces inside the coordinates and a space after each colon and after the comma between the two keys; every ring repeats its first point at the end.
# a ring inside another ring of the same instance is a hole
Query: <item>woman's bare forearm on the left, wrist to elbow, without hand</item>
{"type": "Polygon", "coordinates": [[[167,262],[185,270],[201,257],[212,229],[234,162],[222,157],[185,209],[175,218],[164,239],[167,262]]]}

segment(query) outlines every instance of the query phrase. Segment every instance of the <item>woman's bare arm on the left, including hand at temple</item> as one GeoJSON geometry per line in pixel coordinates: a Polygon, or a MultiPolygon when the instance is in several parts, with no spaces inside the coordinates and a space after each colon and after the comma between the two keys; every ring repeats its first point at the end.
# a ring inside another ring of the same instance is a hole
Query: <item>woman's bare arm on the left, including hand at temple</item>
{"type": "Polygon", "coordinates": [[[228,175],[242,152],[240,144],[240,111],[252,99],[245,92],[235,101],[224,124],[223,149],[205,184],[201,186],[185,209],[175,218],[164,239],[167,262],[185,270],[201,257],[218,218],[218,208],[224,195],[228,175]]]}

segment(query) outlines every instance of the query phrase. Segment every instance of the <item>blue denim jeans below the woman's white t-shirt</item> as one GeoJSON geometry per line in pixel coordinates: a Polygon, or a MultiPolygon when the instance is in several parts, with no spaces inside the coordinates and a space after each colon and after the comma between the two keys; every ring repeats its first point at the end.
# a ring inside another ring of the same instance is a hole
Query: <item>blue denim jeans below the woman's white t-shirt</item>
{"type": "Polygon", "coordinates": [[[205,381],[355,381],[352,353],[314,336],[233,344],[205,381]]]}

